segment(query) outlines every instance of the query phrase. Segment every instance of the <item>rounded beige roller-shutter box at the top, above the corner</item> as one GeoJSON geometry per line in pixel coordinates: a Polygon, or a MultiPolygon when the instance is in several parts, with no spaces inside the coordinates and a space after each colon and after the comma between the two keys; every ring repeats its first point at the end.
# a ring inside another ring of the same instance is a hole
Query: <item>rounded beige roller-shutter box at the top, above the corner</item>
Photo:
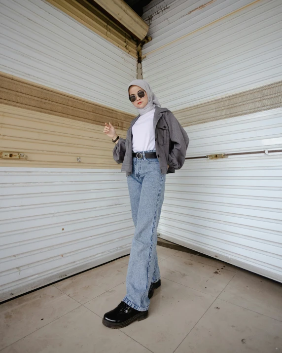
{"type": "Polygon", "coordinates": [[[123,0],[95,0],[137,38],[143,39],[149,26],[123,0]]]}

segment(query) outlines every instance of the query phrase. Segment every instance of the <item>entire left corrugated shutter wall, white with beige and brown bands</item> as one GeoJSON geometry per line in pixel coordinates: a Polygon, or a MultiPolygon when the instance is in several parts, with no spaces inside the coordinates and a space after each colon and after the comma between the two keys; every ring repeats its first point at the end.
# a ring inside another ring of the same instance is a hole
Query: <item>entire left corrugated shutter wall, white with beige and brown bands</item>
{"type": "MultiPolygon", "coordinates": [[[[135,113],[125,94],[136,77],[135,58],[43,0],[1,0],[0,7],[0,71],[135,113]]],[[[56,116],[62,106],[71,111],[78,103],[49,93],[38,106],[54,104],[53,115],[0,107],[0,152],[28,155],[0,159],[0,300],[130,251],[134,225],[113,143],[102,126],[56,116]],[[52,104],[44,104],[48,99],[52,104]]],[[[86,117],[92,109],[87,104],[86,117]]],[[[95,109],[93,114],[94,121],[102,119],[95,109]]],[[[116,126],[124,126],[118,117],[116,126]]]]}

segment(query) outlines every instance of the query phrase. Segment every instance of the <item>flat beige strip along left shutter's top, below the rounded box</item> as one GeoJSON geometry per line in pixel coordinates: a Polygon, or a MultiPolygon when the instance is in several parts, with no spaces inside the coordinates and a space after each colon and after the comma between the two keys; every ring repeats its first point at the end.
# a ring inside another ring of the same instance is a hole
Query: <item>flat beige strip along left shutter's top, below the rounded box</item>
{"type": "Polygon", "coordinates": [[[83,0],[79,2],[76,0],[47,1],[120,49],[137,57],[136,42],[89,2],[83,0]]]}

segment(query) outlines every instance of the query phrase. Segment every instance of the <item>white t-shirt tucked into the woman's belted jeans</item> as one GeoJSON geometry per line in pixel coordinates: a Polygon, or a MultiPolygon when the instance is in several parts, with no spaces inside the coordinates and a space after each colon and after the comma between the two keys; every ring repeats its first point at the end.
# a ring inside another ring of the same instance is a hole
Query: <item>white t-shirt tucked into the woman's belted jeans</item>
{"type": "Polygon", "coordinates": [[[155,150],[154,113],[155,109],[141,115],[132,126],[133,152],[155,150]]]}

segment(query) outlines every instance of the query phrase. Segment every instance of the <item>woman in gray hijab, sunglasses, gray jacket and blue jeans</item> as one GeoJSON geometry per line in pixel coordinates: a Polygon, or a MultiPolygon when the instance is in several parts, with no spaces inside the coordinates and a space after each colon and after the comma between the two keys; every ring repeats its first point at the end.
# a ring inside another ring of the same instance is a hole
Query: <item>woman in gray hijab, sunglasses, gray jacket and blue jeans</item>
{"type": "Polygon", "coordinates": [[[126,139],[117,136],[111,123],[105,123],[104,128],[115,143],[113,158],[126,172],[135,225],[127,294],[103,318],[110,328],[125,327],[148,316],[150,298],[161,285],[156,245],[166,174],[182,167],[189,143],[183,127],[168,109],[161,108],[145,80],[132,81],[128,93],[139,116],[132,120],[126,139]]]}

